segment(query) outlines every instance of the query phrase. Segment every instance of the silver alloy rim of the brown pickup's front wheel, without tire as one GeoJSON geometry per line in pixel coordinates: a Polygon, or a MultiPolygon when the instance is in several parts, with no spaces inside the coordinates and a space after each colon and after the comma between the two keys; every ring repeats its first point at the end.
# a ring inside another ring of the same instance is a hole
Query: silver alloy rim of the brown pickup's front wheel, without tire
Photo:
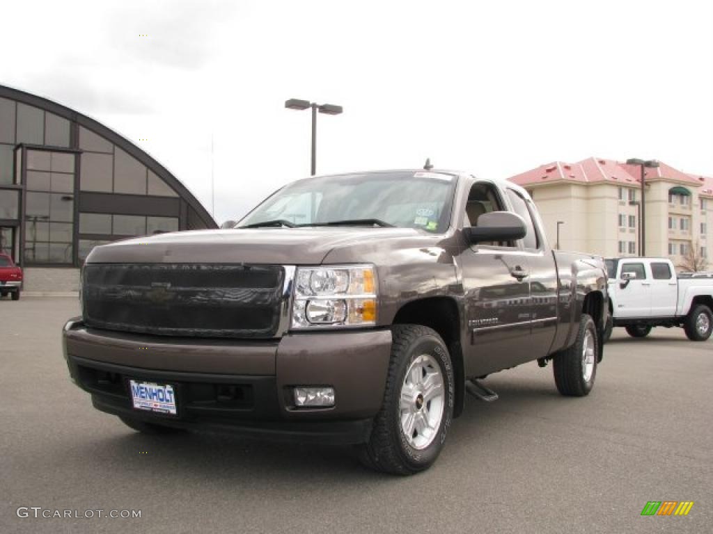
{"type": "Polygon", "coordinates": [[[443,419],[446,391],[441,366],[428,354],[416,357],[401,385],[401,429],[414,449],[426,449],[434,441],[443,419]]]}

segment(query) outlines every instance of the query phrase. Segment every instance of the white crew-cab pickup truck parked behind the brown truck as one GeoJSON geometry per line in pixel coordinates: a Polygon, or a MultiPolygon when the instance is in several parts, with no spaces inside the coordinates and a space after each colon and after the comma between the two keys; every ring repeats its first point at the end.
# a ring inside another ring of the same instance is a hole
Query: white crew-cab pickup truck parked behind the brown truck
{"type": "Polygon", "coordinates": [[[632,337],[646,337],[655,326],[682,326],[692,341],[710,337],[713,273],[677,275],[666,258],[615,258],[605,263],[611,312],[605,341],[617,326],[632,337]]]}

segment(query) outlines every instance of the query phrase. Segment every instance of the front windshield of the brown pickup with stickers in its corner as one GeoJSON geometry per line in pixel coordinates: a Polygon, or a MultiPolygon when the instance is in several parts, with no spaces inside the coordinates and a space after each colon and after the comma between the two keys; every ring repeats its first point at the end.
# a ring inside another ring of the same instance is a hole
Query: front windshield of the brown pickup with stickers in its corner
{"type": "Polygon", "coordinates": [[[440,234],[451,217],[456,177],[371,172],[299,180],[255,208],[245,226],[398,226],[440,234]],[[272,223],[272,224],[270,224],[272,223]]]}

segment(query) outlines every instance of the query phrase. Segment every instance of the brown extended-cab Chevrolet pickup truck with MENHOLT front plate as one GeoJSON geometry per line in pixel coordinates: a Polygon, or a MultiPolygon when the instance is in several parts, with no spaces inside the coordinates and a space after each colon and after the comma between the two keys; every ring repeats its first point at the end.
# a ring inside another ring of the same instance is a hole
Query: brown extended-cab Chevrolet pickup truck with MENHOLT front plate
{"type": "Polygon", "coordinates": [[[138,431],[354,444],[429,467],[466,392],[553,361],[592,389],[607,323],[601,258],[552,251],[528,194],[446,171],[289,184],[235,229],[98,246],[63,330],[73,381],[138,431]]]}

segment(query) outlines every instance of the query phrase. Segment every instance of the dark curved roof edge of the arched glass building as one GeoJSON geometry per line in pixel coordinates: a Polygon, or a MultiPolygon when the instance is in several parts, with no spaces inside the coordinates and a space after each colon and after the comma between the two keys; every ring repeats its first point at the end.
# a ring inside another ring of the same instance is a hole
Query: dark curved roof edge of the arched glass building
{"type": "Polygon", "coordinates": [[[54,113],[55,115],[59,115],[60,117],[72,120],[78,125],[81,125],[87,128],[88,130],[91,130],[96,134],[101,135],[106,140],[113,142],[114,145],[119,147],[124,152],[127,152],[131,156],[135,157],[135,159],[137,159],[139,162],[143,163],[146,167],[148,167],[151,172],[156,174],[168,185],[170,185],[170,187],[172,187],[175,192],[177,192],[178,195],[188,203],[188,205],[193,209],[193,211],[198,214],[198,217],[201,219],[203,224],[205,224],[206,228],[218,227],[217,224],[215,224],[215,220],[213,220],[212,216],[210,216],[208,211],[202,206],[202,204],[200,204],[198,199],[193,196],[193,193],[191,193],[188,188],[180,182],[178,178],[173,176],[173,174],[171,174],[168,169],[163,167],[163,165],[153,159],[153,157],[150,157],[150,155],[148,155],[146,152],[134,145],[133,142],[130,142],[122,135],[119,135],[114,130],[111,130],[111,128],[108,128],[105,125],[101,124],[101,122],[98,122],[97,120],[94,120],[91,117],[87,117],[86,115],[83,115],[80,112],[75,111],[71,108],[67,108],[64,105],[53,102],[52,100],[48,100],[47,98],[33,95],[31,93],[26,93],[24,91],[14,89],[6,85],[0,85],[0,97],[9,98],[11,100],[21,102],[23,104],[32,105],[36,108],[41,108],[48,112],[54,113]]]}

